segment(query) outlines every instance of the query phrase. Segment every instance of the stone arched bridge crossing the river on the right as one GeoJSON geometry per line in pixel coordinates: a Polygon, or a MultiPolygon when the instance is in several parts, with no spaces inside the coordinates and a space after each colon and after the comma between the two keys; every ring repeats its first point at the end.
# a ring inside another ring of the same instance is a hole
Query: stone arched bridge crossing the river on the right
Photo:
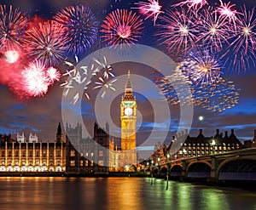
{"type": "Polygon", "coordinates": [[[256,181],[256,148],[167,161],[152,168],[156,176],[186,179],[256,181]]]}

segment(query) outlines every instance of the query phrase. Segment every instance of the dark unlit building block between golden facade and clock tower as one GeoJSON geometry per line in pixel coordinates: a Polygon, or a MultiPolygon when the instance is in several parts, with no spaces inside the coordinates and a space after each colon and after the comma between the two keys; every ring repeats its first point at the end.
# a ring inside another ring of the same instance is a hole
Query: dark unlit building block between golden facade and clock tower
{"type": "MultiPolygon", "coordinates": [[[[107,124],[108,129],[108,124],[107,124]]],[[[108,174],[109,135],[94,125],[94,138],[82,139],[82,127],[67,125],[67,174],[108,174]]]]}

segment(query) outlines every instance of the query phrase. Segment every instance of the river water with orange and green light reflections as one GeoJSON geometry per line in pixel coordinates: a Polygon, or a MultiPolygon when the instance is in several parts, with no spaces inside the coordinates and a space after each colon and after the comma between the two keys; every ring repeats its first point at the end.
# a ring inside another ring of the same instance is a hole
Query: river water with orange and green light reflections
{"type": "Polygon", "coordinates": [[[0,178],[0,209],[256,210],[256,195],[149,178],[0,178]]]}

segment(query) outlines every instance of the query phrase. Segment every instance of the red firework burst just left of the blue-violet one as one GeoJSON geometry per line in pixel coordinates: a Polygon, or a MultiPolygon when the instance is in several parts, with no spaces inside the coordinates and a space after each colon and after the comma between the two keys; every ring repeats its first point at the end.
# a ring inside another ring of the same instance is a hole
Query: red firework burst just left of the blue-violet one
{"type": "Polygon", "coordinates": [[[63,28],[53,21],[38,23],[26,31],[25,48],[28,58],[39,60],[45,65],[58,65],[66,51],[63,28]]]}

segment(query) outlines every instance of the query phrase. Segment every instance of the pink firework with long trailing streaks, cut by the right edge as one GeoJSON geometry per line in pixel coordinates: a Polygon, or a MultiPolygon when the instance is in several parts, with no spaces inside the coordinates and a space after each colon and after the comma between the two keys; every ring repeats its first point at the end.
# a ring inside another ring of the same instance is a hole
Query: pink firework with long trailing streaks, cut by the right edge
{"type": "Polygon", "coordinates": [[[230,69],[240,71],[246,70],[250,65],[255,65],[255,47],[256,47],[256,19],[253,17],[254,8],[241,9],[241,14],[236,20],[236,32],[231,37],[232,43],[224,53],[226,64],[230,69]]]}

